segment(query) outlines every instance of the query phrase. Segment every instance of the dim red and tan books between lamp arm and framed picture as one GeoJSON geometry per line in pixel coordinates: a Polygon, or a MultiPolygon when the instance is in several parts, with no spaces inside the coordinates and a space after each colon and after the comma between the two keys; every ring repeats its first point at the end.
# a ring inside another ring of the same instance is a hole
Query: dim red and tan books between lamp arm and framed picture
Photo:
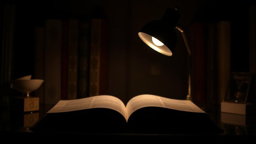
{"type": "Polygon", "coordinates": [[[223,100],[230,75],[230,21],[195,22],[189,28],[193,101],[202,108],[223,100]]]}

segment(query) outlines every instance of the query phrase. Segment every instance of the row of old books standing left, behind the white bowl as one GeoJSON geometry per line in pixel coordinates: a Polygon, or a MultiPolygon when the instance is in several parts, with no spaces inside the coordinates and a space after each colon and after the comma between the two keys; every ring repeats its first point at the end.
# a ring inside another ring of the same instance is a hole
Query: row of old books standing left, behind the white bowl
{"type": "Polygon", "coordinates": [[[34,76],[44,79],[35,91],[40,103],[106,93],[107,38],[104,19],[47,19],[36,27],[34,76]]]}

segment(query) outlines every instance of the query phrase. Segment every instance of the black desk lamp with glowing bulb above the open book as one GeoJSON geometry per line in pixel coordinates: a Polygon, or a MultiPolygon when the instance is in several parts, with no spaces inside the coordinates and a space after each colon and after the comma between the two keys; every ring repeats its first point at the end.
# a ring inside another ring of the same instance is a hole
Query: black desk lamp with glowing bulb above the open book
{"type": "Polygon", "coordinates": [[[177,44],[175,29],[180,31],[188,51],[188,95],[191,97],[191,51],[184,30],[178,26],[180,13],[177,9],[168,8],[161,20],[153,20],[144,25],[138,33],[140,39],[149,47],[167,56],[172,56],[172,52],[177,44]]]}

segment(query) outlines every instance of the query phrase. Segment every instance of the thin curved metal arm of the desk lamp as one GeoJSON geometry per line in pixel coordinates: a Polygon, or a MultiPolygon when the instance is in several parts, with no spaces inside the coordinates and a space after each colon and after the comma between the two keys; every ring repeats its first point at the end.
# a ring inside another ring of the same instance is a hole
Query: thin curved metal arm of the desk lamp
{"type": "Polygon", "coordinates": [[[184,33],[184,30],[179,27],[175,27],[175,28],[181,32],[182,37],[185,42],[185,45],[186,45],[186,48],[187,48],[187,51],[188,51],[188,95],[187,95],[186,100],[192,100],[192,96],[191,96],[191,50],[189,48],[188,40],[184,33]]]}

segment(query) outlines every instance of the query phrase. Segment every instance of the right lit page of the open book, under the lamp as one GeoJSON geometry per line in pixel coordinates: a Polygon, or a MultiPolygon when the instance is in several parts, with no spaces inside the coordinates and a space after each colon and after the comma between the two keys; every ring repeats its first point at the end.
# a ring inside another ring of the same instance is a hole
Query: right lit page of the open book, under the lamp
{"type": "Polygon", "coordinates": [[[143,94],[135,96],[128,101],[126,105],[127,118],[129,118],[134,111],[144,107],[162,107],[180,111],[205,113],[190,100],[176,100],[156,95],[143,94]]]}

